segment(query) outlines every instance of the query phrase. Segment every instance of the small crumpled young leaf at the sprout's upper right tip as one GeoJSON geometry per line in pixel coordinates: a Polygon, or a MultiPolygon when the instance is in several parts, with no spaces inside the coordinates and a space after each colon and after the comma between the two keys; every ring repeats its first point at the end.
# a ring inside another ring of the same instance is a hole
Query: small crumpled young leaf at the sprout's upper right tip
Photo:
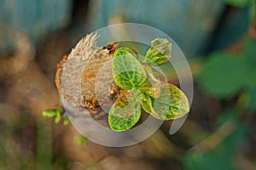
{"type": "Polygon", "coordinates": [[[155,65],[162,65],[171,58],[171,51],[171,42],[166,38],[155,38],[146,53],[146,59],[149,59],[155,65]]]}

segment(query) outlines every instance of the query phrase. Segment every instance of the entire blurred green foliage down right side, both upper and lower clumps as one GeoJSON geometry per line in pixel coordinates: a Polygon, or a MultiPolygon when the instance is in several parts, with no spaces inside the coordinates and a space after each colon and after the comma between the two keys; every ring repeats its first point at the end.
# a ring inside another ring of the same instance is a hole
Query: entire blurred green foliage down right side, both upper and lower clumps
{"type": "Polygon", "coordinates": [[[241,44],[240,52],[211,54],[196,77],[207,94],[215,99],[236,99],[236,102],[229,106],[231,109],[224,108],[226,111],[218,117],[215,130],[208,137],[207,144],[213,143],[214,147],[207,148],[205,143],[202,145],[206,148],[199,147],[183,157],[186,169],[238,168],[236,156],[241,153],[241,144],[249,130],[245,117],[256,111],[256,39],[246,36],[241,44]]]}

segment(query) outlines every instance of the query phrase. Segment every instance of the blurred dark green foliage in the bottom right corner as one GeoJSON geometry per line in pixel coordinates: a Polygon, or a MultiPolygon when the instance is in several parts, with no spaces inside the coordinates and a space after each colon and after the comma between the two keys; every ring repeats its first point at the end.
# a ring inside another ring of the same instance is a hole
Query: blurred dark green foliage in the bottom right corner
{"type": "MultiPolygon", "coordinates": [[[[234,118],[237,113],[235,111],[226,111],[223,116],[219,117],[221,122],[234,118]],[[231,116],[226,119],[226,116],[231,116]]],[[[245,123],[240,123],[225,139],[218,144],[213,150],[202,150],[195,153],[188,153],[183,157],[184,167],[186,169],[197,170],[215,170],[225,169],[233,170],[236,167],[236,154],[241,147],[244,139],[247,138],[248,127],[245,123]]]]}

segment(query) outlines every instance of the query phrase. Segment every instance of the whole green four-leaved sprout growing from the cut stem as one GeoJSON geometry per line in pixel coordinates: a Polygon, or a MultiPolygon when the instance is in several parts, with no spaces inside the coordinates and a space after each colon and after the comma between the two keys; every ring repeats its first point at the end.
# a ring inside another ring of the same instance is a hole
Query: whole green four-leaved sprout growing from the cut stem
{"type": "Polygon", "coordinates": [[[189,101],[176,86],[162,81],[154,69],[171,58],[172,43],[156,38],[142,57],[131,48],[117,48],[113,54],[113,78],[122,90],[113,103],[108,123],[114,131],[133,127],[142,109],[161,120],[173,120],[189,112],[189,101]]]}

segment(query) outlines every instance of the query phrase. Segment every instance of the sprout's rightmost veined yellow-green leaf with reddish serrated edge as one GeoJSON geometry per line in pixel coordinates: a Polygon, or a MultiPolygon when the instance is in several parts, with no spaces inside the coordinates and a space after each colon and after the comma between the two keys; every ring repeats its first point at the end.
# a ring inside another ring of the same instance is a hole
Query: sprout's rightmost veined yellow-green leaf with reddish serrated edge
{"type": "Polygon", "coordinates": [[[160,85],[159,98],[152,98],[147,94],[142,97],[143,109],[158,119],[177,119],[189,112],[189,100],[186,95],[172,84],[160,85]]]}

